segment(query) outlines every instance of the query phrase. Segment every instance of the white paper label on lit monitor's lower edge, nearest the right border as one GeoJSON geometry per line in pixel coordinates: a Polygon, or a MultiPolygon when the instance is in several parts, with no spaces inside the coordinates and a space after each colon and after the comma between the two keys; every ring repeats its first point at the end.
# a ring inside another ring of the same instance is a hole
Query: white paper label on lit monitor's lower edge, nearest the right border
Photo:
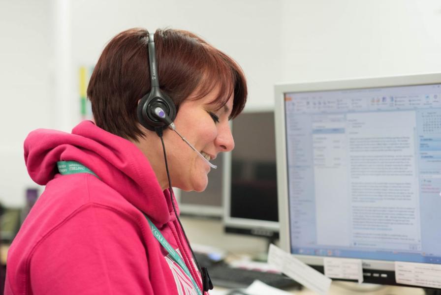
{"type": "Polygon", "coordinates": [[[395,281],[399,284],[441,289],[441,265],[396,261],[395,281]]]}

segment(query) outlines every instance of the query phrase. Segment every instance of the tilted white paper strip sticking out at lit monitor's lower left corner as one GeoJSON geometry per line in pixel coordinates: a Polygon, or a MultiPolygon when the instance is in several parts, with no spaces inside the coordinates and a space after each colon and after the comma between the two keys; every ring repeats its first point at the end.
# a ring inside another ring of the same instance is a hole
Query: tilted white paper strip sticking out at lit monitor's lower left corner
{"type": "Polygon", "coordinates": [[[288,277],[318,294],[326,294],[331,285],[330,278],[273,244],[270,244],[268,251],[268,263],[277,266],[288,277]]]}

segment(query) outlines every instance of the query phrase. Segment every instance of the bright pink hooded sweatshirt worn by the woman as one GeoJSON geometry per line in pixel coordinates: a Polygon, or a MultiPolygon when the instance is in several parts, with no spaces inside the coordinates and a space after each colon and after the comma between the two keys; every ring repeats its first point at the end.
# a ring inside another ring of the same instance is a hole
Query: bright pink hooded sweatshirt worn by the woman
{"type": "Polygon", "coordinates": [[[72,134],[32,131],[24,148],[29,175],[46,189],[9,249],[4,294],[196,294],[142,212],[202,288],[168,191],[135,145],[84,121],[72,134]],[[60,175],[57,161],[99,178],[60,175]]]}

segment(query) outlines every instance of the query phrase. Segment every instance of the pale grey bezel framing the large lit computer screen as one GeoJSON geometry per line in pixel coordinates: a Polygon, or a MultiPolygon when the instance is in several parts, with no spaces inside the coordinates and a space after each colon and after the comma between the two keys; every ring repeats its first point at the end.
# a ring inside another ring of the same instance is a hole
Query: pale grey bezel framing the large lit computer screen
{"type": "MultiPolygon", "coordinates": [[[[276,159],[277,159],[277,185],[279,200],[279,223],[280,223],[280,245],[281,248],[290,253],[289,240],[289,207],[288,207],[288,180],[286,162],[286,136],[285,136],[285,110],[284,93],[287,92],[308,92],[343,89],[381,88],[417,86],[441,83],[441,73],[375,77],[333,81],[302,82],[291,84],[278,84],[275,86],[275,127],[276,127],[276,159]]],[[[325,256],[297,255],[292,254],[304,263],[311,266],[319,266],[322,269],[325,256]]],[[[394,261],[362,259],[363,271],[375,270],[393,273],[395,270],[394,261]]],[[[394,284],[395,278],[383,280],[385,284],[394,284]]],[[[365,281],[381,282],[380,278],[368,278],[365,281]]]]}

